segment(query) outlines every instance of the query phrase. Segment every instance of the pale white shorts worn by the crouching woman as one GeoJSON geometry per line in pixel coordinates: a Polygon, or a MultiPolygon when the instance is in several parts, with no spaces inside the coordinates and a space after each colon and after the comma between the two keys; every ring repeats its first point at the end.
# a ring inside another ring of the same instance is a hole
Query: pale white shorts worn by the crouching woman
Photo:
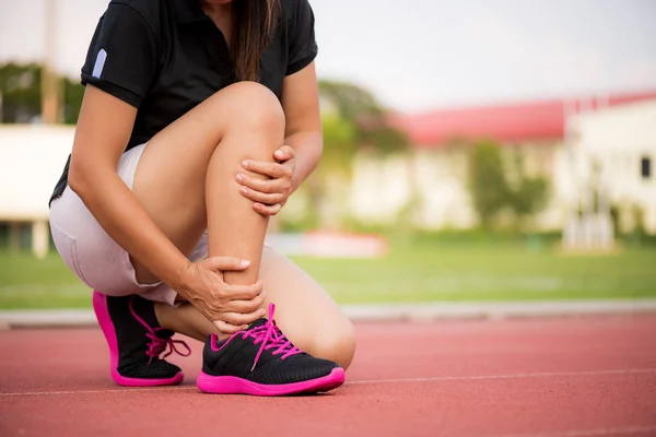
{"type": "MultiPolygon", "coordinates": [[[[118,163],[118,176],[130,189],[145,144],[130,149],[118,163]]],[[[107,235],[70,187],[50,205],[50,229],[63,261],[90,287],[109,296],[139,294],[149,300],[175,304],[177,293],[168,285],[137,281],[128,252],[107,235]]],[[[199,261],[207,255],[204,233],[189,259],[199,261]]]]}

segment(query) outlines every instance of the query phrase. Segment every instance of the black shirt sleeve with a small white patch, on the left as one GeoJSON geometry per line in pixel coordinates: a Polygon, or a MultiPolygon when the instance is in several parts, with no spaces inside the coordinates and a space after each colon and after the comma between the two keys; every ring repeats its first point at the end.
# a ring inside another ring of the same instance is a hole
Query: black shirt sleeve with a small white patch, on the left
{"type": "Polygon", "coordinates": [[[82,67],[87,83],[139,108],[157,70],[155,37],[140,12],[112,2],[98,22],[82,67]]]}

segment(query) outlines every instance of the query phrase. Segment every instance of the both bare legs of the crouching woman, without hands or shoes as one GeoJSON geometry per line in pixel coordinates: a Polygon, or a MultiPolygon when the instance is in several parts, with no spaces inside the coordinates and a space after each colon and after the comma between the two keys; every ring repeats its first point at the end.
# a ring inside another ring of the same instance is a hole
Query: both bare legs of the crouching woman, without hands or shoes
{"type": "MultiPolygon", "coordinates": [[[[250,260],[248,270],[231,272],[226,282],[262,279],[267,300],[277,304],[277,320],[290,340],[345,367],[354,350],[351,323],[305,272],[272,249],[262,255],[267,220],[238,193],[235,176],[244,172],[242,161],[273,161],[283,132],[284,115],[271,92],[255,83],[229,86],[149,142],[132,190],[183,252],[194,250],[207,227],[210,256],[250,260]]],[[[157,280],[137,262],[134,269],[140,282],[157,280]]],[[[215,332],[190,305],[157,305],[156,310],[165,328],[200,340],[215,332]]]]}

